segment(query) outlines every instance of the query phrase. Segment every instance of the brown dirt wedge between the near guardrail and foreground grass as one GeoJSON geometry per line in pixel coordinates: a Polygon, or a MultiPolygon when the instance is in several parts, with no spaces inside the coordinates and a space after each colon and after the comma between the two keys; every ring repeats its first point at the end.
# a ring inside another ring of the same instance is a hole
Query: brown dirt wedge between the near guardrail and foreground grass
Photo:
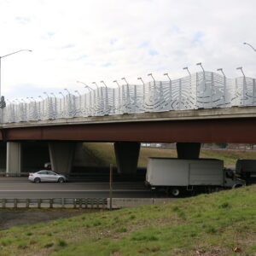
{"type": "Polygon", "coordinates": [[[23,224],[37,224],[59,218],[70,218],[86,212],[98,212],[96,210],[0,210],[0,230],[7,230],[23,224]]]}

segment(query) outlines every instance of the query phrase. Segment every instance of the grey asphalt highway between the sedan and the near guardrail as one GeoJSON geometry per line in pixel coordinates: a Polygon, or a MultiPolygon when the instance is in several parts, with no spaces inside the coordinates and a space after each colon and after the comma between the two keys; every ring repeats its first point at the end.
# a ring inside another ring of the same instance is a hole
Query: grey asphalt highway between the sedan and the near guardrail
{"type": "MultiPolygon", "coordinates": [[[[151,198],[143,183],[113,183],[113,197],[151,198]]],[[[104,198],[108,183],[31,183],[24,177],[0,177],[0,198],[104,198]]]]}

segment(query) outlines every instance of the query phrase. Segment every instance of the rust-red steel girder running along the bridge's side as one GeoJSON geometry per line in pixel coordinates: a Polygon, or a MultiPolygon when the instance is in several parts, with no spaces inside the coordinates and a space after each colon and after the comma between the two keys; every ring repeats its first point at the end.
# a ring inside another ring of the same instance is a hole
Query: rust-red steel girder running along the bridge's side
{"type": "Polygon", "coordinates": [[[256,118],[2,128],[0,139],[3,141],[256,143],[256,118]]]}

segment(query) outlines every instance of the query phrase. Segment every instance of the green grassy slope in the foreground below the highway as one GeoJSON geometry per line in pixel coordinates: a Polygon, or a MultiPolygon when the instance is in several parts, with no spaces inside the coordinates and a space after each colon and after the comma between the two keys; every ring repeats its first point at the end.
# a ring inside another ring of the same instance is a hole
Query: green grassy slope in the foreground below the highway
{"type": "Polygon", "coordinates": [[[251,186],[3,230],[0,254],[256,255],[255,230],[251,186]]]}

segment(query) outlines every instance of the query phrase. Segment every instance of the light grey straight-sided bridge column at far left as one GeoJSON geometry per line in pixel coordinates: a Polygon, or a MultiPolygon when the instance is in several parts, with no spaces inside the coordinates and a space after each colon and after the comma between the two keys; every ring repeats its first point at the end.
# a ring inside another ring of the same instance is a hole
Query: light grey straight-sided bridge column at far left
{"type": "Polygon", "coordinates": [[[21,143],[7,143],[6,173],[20,176],[21,172],[21,143]]]}

